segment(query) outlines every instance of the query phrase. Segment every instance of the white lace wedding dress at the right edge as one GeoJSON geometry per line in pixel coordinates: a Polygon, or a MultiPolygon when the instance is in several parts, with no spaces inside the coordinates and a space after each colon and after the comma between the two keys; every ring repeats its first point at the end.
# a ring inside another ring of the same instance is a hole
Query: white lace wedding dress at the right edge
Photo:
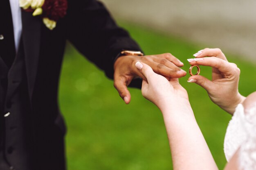
{"type": "Polygon", "coordinates": [[[227,161],[238,149],[239,169],[256,170],[256,104],[246,114],[243,105],[238,105],[227,127],[224,139],[227,161]]]}

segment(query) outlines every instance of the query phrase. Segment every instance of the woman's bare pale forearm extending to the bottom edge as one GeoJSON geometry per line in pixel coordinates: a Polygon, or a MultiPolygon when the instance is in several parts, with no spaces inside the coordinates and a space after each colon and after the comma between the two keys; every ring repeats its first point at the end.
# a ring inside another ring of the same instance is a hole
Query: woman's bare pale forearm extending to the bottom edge
{"type": "MultiPolygon", "coordinates": [[[[182,102],[180,102],[182,103],[182,102]]],[[[174,170],[218,170],[189,102],[162,108],[174,170]]]]}

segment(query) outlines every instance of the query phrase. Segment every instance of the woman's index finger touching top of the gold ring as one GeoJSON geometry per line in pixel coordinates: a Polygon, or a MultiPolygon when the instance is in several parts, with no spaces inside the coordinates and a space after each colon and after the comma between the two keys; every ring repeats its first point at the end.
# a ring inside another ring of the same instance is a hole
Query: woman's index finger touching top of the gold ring
{"type": "Polygon", "coordinates": [[[191,65],[205,65],[218,69],[222,73],[234,74],[236,68],[233,64],[216,57],[188,59],[191,65]]]}

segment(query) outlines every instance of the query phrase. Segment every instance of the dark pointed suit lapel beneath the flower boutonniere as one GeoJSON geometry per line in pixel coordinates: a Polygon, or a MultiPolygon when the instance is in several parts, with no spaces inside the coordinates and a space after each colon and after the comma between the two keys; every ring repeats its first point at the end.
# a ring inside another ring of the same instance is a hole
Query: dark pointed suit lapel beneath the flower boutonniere
{"type": "Polygon", "coordinates": [[[25,65],[29,88],[29,97],[32,98],[38,68],[40,37],[42,20],[32,13],[22,11],[22,37],[25,53],[25,65]]]}

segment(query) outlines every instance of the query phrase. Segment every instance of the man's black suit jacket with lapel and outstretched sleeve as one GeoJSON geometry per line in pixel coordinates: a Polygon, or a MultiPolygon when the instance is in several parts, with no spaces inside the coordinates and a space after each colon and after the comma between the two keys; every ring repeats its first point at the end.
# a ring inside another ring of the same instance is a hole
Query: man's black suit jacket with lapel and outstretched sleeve
{"type": "Polygon", "coordinates": [[[22,41],[32,110],[29,121],[34,131],[31,163],[37,170],[65,169],[65,124],[58,109],[57,94],[67,40],[110,78],[114,59],[121,50],[140,50],[96,0],[68,0],[67,15],[57,22],[53,31],[39,16],[22,11],[22,41]]]}

